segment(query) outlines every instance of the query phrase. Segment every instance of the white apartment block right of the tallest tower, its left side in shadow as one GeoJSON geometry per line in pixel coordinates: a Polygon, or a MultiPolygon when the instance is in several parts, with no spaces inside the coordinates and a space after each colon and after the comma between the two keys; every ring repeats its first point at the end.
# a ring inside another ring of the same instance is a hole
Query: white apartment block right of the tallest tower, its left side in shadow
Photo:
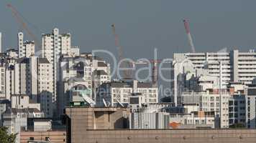
{"type": "Polygon", "coordinates": [[[60,58],[60,77],[58,81],[58,112],[63,114],[64,107],[72,102],[71,90],[82,85],[86,96],[95,99],[96,88],[110,82],[110,64],[84,53],[80,56],[63,56],[60,58]]]}

